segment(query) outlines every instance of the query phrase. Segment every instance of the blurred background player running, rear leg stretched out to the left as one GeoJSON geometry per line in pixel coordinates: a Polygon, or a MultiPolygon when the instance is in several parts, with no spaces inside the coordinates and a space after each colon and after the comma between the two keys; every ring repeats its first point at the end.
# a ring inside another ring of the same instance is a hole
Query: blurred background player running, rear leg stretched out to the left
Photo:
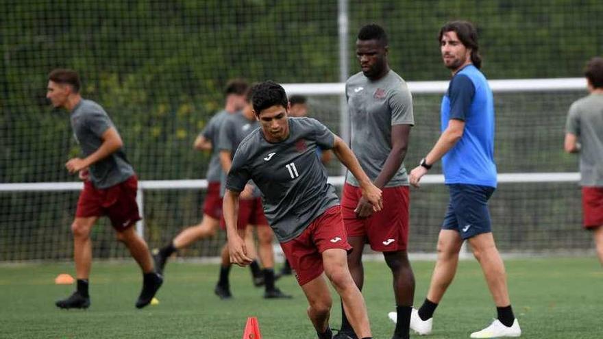
{"type": "MultiPolygon", "coordinates": [[[[201,134],[195,139],[194,147],[199,151],[212,151],[210,164],[206,174],[208,181],[208,190],[203,206],[203,218],[198,225],[186,227],[180,234],[175,236],[167,245],[158,250],[154,259],[156,267],[163,274],[164,266],[172,253],[188,247],[193,242],[214,236],[219,229],[220,219],[222,217],[222,198],[220,196],[220,179],[222,166],[219,159],[219,149],[217,147],[219,140],[220,127],[227,116],[243,110],[247,105],[247,92],[249,84],[243,79],[234,79],[229,81],[225,89],[225,106],[220,112],[217,112],[201,131],[201,134]]],[[[251,234],[253,236],[253,234],[251,234]]],[[[225,252],[226,253],[226,252],[225,252]]],[[[254,277],[256,286],[263,283],[264,278],[260,271],[258,262],[254,260],[249,266],[251,274],[254,277]]]]}

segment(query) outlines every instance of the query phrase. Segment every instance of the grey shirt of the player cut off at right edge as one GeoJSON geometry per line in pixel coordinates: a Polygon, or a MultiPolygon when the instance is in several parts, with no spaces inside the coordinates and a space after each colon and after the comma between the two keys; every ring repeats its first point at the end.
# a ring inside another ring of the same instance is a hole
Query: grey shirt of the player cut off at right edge
{"type": "Polygon", "coordinates": [[[569,108],[567,133],[578,137],[580,185],[603,186],[603,95],[591,94],[569,108]]]}

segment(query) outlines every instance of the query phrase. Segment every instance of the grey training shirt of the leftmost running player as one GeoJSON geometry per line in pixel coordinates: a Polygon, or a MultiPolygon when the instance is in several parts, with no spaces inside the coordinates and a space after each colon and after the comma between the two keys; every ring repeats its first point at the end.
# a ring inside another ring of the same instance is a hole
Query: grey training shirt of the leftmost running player
{"type": "MultiPolygon", "coordinates": [[[[71,127],[84,157],[87,157],[101,147],[103,133],[115,125],[101,105],[82,99],[71,111],[71,127]]],[[[127,161],[123,148],[90,165],[90,181],[96,188],[115,186],[132,175],[134,169],[127,161]]]]}

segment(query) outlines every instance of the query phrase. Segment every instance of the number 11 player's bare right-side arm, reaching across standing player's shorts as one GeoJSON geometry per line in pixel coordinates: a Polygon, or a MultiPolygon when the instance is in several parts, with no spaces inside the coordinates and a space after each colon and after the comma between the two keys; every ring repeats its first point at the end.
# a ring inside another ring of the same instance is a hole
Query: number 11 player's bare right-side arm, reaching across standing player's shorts
{"type": "Polygon", "coordinates": [[[358,184],[360,184],[360,189],[362,190],[362,197],[373,205],[373,210],[380,211],[383,208],[381,190],[373,185],[367,173],[362,171],[356,155],[352,153],[352,150],[347,147],[347,144],[339,136],[334,136],[333,153],[358,180],[358,184]]]}

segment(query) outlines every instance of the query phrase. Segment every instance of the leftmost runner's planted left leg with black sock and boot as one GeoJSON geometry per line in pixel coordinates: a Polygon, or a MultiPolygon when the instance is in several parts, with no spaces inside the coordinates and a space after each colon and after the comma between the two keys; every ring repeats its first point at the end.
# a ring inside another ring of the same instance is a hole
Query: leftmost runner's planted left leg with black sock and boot
{"type": "Polygon", "coordinates": [[[76,217],[71,224],[77,290],[66,299],[57,301],[55,303],[57,307],[69,309],[88,308],[90,306],[90,295],[88,294],[88,277],[90,276],[90,266],[92,266],[90,230],[97,220],[97,216],[86,218],[76,217]]]}

